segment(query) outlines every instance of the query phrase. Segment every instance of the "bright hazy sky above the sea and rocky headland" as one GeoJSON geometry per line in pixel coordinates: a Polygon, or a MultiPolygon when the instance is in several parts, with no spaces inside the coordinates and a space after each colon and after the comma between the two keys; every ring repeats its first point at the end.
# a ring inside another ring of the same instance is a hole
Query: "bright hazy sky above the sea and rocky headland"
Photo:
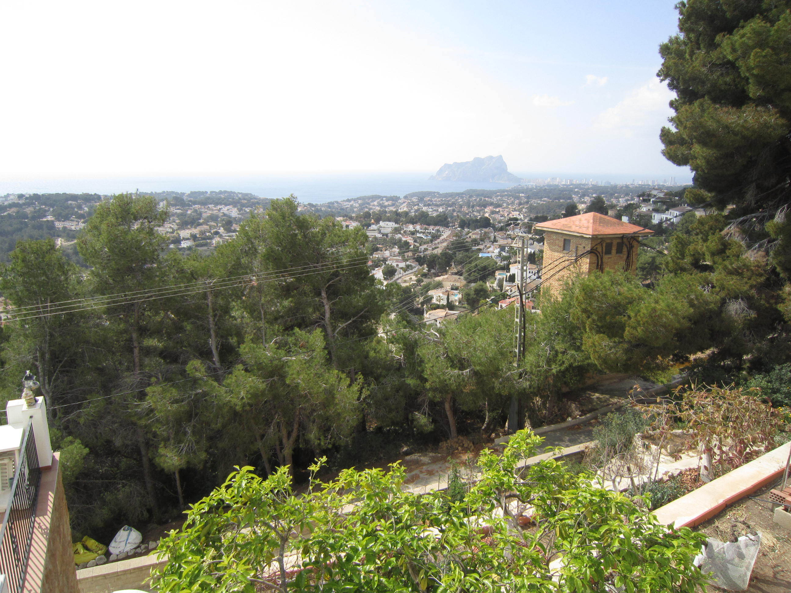
{"type": "Polygon", "coordinates": [[[660,154],[675,0],[4,0],[0,179],[509,170],[660,154]]]}

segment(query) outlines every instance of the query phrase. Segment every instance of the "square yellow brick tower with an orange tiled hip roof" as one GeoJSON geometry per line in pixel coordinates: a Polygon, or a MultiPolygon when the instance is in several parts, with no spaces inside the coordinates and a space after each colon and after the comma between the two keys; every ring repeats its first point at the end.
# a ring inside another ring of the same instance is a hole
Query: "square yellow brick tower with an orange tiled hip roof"
{"type": "Polygon", "coordinates": [[[594,270],[634,274],[639,237],[653,235],[649,229],[596,212],[541,222],[536,230],[544,232],[542,285],[555,295],[566,281],[594,270]]]}

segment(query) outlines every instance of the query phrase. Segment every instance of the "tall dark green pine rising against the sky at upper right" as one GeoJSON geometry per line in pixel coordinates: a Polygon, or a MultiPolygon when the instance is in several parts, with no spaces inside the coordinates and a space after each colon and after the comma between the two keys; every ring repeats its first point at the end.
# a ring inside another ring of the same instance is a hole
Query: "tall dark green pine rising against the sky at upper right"
{"type": "Polygon", "coordinates": [[[692,202],[735,205],[747,239],[774,244],[791,276],[791,2],[679,2],[679,34],[660,46],[676,92],[664,156],[694,172],[692,202]]]}

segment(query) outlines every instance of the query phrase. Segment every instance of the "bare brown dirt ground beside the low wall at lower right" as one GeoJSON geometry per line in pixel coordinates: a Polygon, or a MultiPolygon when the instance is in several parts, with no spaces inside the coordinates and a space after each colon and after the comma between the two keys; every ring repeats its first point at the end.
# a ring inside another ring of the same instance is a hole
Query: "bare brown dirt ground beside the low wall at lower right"
{"type": "MultiPolygon", "coordinates": [[[[778,488],[778,485],[767,486],[751,496],[766,499],[766,494],[773,488],[778,488]]],[[[744,531],[748,526],[759,531],[762,538],[761,547],[747,591],[789,593],[791,591],[791,530],[774,523],[771,507],[772,505],[766,502],[743,498],[713,519],[702,523],[695,531],[701,531],[721,542],[729,541],[732,530],[744,531]]],[[[723,591],[718,587],[710,587],[710,590],[723,591]]]]}

